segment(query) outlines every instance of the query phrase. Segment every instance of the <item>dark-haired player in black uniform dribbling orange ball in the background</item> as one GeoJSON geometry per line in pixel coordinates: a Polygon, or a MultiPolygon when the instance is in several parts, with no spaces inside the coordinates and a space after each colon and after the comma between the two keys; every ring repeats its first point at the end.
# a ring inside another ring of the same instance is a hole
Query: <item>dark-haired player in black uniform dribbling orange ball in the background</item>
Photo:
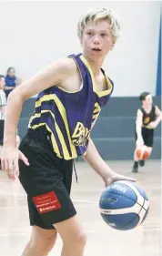
{"type": "MultiPolygon", "coordinates": [[[[150,155],[153,147],[154,129],[162,120],[162,112],[153,105],[152,95],[149,92],[141,93],[139,100],[142,102],[142,107],[137,109],[136,146],[146,145],[150,155]]],[[[133,172],[138,171],[138,163],[143,167],[145,160],[137,159],[137,155],[134,153],[133,172]]]]}

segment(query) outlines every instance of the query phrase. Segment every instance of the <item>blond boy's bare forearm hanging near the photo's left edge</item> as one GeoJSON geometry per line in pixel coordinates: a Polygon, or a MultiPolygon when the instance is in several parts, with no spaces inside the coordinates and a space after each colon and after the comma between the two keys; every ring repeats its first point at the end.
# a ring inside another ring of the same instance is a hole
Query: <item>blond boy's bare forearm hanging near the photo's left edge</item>
{"type": "Polygon", "coordinates": [[[21,114],[23,100],[15,92],[11,92],[5,108],[4,146],[15,147],[16,129],[21,114]]]}

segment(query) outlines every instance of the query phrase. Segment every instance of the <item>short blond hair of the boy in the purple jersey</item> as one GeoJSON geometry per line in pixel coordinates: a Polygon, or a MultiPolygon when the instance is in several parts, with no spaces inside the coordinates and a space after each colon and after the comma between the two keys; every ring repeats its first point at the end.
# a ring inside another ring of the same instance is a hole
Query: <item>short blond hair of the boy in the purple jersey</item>
{"type": "Polygon", "coordinates": [[[117,15],[110,9],[100,9],[97,11],[91,11],[83,15],[77,24],[77,36],[81,38],[83,36],[83,31],[89,21],[95,23],[99,21],[107,20],[110,24],[110,30],[112,36],[116,39],[119,37],[120,33],[120,22],[117,15]]]}

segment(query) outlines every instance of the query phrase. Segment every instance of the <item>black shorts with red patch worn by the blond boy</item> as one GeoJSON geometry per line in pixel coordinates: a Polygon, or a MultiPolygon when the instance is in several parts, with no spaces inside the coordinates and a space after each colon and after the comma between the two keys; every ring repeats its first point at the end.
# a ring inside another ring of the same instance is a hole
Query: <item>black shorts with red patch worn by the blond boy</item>
{"type": "Polygon", "coordinates": [[[30,166],[19,161],[20,182],[27,193],[30,224],[54,229],[53,224],[76,215],[70,200],[73,160],[59,159],[44,134],[29,132],[19,149],[30,166]]]}

